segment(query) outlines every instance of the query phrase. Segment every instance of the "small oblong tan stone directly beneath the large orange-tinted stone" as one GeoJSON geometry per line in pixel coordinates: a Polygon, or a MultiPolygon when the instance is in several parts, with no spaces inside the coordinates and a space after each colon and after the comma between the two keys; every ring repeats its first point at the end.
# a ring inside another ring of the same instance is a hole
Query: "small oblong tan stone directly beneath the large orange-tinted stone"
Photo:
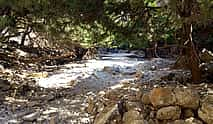
{"type": "Polygon", "coordinates": [[[159,120],[177,120],[180,118],[181,108],[179,106],[163,107],[157,111],[159,120]]]}

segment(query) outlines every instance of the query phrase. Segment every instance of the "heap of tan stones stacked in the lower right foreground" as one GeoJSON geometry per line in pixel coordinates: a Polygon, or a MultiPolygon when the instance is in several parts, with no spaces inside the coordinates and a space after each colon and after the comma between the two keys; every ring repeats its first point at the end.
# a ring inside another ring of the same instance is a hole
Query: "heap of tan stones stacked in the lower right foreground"
{"type": "Polygon", "coordinates": [[[94,124],[213,124],[213,95],[193,88],[124,86],[95,99],[88,109],[94,124]]]}

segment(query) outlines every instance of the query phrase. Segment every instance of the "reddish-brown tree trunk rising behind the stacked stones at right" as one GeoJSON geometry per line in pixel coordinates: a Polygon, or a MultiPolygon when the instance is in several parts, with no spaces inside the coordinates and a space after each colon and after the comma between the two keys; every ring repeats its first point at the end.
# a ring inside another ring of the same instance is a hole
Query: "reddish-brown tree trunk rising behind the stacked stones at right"
{"type": "Polygon", "coordinates": [[[185,46],[181,50],[180,55],[186,57],[186,65],[191,71],[193,83],[201,81],[201,70],[199,68],[200,60],[197,50],[192,40],[192,8],[194,0],[184,0],[181,8],[178,9],[178,14],[183,20],[182,30],[183,36],[180,45],[185,46]]]}

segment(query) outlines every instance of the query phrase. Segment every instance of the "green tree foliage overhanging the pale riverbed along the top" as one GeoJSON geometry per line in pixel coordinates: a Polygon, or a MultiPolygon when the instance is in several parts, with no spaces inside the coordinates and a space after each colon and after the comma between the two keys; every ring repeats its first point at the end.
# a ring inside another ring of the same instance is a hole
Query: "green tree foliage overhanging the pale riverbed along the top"
{"type": "MultiPolygon", "coordinates": [[[[172,43],[181,24],[175,14],[178,1],[159,6],[158,0],[0,0],[0,32],[9,27],[9,34],[20,34],[19,29],[31,27],[52,42],[66,40],[87,47],[172,43]],[[163,6],[167,4],[170,9],[163,6]]],[[[198,2],[201,14],[211,17],[212,1],[198,2]]]]}

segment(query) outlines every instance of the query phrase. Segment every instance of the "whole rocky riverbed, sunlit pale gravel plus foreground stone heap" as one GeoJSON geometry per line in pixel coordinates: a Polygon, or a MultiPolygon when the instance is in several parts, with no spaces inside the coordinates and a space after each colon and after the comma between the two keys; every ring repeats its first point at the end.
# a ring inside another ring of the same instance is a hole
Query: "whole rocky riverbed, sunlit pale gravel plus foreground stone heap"
{"type": "Polygon", "coordinates": [[[170,69],[173,63],[105,53],[40,72],[6,70],[24,83],[12,92],[0,86],[0,123],[211,124],[212,84],[190,85],[189,71],[170,69]]]}

